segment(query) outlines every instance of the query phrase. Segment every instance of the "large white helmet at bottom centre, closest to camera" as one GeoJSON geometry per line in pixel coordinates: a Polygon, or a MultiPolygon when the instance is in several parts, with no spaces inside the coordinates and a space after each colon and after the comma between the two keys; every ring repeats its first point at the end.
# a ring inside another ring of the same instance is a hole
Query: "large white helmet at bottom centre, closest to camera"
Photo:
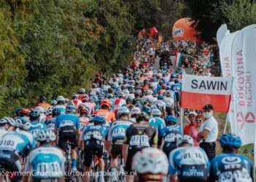
{"type": "Polygon", "coordinates": [[[146,148],[138,151],[132,158],[132,170],[136,170],[139,174],[166,175],[168,167],[168,159],[159,149],[146,148]]]}

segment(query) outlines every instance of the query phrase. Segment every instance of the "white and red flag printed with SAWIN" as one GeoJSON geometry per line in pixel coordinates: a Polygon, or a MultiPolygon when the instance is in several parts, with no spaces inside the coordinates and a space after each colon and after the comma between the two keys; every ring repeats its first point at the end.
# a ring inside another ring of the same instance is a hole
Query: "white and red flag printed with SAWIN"
{"type": "Polygon", "coordinates": [[[192,76],[182,79],[181,107],[202,110],[206,104],[214,111],[227,113],[230,106],[233,77],[192,76]]]}

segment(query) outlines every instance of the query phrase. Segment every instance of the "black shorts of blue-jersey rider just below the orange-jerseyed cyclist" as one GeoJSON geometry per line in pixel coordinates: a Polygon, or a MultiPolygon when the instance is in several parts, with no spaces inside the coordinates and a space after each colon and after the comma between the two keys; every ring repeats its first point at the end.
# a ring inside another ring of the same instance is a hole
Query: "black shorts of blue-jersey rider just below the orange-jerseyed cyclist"
{"type": "Polygon", "coordinates": [[[101,141],[84,141],[84,165],[91,166],[93,155],[101,158],[103,156],[103,146],[101,141]]]}

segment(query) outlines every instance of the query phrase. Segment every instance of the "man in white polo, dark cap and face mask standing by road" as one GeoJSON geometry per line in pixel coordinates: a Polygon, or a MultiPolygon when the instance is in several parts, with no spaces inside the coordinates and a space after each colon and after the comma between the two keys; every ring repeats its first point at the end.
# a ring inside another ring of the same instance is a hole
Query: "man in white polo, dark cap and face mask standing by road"
{"type": "Polygon", "coordinates": [[[200,126],[197,135],[197,141],[200,142],[200,148],[206,151],[209,161],[216,156],[216,141],[218,136],[218,123],[213,116],[214,107],[211,104],[206,104],[203,107],[203,115],[206,117],[206,122],[200,126]]]}

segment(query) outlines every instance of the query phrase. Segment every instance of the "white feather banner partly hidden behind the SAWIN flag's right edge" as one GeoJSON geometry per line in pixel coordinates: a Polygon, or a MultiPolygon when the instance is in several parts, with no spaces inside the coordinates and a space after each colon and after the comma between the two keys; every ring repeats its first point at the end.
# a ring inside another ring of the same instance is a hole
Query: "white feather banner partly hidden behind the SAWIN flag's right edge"
{"type": "MultiPolygon", "coordinates": [[[[232,45],[235,36],[239,31],[230,33],[222,39],[219,47],[219,59],[222,67],[222,76],[233,76],[232,73],[232,45]]],[[[236,120],[234,116],[233,94],[230,100],[230,111],[228,112],[228,122],[230,122],[231,132],[236,132],[236,120]]]]}

